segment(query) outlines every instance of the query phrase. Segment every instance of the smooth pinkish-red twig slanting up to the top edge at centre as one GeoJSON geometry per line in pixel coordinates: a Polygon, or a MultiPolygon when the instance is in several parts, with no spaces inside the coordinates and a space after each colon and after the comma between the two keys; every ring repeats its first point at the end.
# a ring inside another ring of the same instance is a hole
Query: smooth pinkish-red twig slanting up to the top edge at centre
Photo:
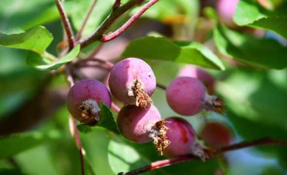
{"type": "Polygon", "coordinates": [[[119,35],[123,34],[138,18],[140,18],[143,13],[149,9],[152,5],[154,5],[156,2],[158,2],[159,0],[150,0],[148,3],[146,3],[143,8],[138,11],[135,15],[133,15],[131,18],[129,18],[126,23],[120,27],[118,30],[116,30],[115,32],[109,34],[109,35],[103,35],[101,38],[101,41],[103,42],[107,42],[110,41],[112,39],[115,39],[116,37],[118,37],[119,35]]]}

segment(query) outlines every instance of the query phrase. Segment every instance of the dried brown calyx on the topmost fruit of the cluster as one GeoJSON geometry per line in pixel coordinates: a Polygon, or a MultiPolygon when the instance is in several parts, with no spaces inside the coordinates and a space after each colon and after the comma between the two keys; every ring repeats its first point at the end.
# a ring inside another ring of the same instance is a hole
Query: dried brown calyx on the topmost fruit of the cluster
{"type": "Polygon", "coordinates": [[[128,90],[128,95],[136,98],[136,106],[145,108],[153,104],[152,99],[143,91],[144,86],[139,78],[135,79],[128,90]]]}

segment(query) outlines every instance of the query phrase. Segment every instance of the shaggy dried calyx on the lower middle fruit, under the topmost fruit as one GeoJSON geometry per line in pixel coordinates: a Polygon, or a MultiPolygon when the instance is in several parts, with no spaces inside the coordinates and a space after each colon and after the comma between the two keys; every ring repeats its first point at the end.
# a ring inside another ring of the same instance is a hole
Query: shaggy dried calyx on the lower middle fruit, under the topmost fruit
{"type": "Polygon", "coordinates": [[[163,152],[162,152],[163,149],[165,149],[170,144],[170,141],[167,139],[167,136],[166,136],[167,130],[170,130],[170,129],[164,125],[165,123],[168,123],[168,122],[164,120],[160,120],[159,122],[150,124],[146,132],[148,137],[153,140],[153,143],[155,144],[160,156],[163,155],[163,152]]]}

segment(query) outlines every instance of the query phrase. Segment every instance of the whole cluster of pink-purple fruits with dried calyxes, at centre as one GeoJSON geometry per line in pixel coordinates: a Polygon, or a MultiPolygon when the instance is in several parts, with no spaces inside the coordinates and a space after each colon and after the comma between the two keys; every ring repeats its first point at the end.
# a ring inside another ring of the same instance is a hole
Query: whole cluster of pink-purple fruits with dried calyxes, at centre
{"type": "MultiPolygon", "coordinates": [[[[204,70],[187,66],[167,87],[167,102],[183,116],[196,115],[203,109],[222,113],[222,101],[213,95],[214,83],[213,77],[204,70]]],[[[197,139],[190,123],[179,117],[161,119],[160,112],[150,98],[156,84],[153,70],[139,58],[126,58],[113,66],[108,86],[111,94],[125,104],[117,117],[121,134],[138,143],[153,140],[160,155],[175,157],[192,153],[204,158],[206,147],[197,139]]],[[[108,88],[97,80],[82,80],[70,89],[68,109],[81,123],[96,125],[101,112],[100,101],[111,106],[108,88]]],[[[215,133],[216,126],[209,124],[202,130],[201,137],[213,147],[229,144],[229,134],[214,140],[212,135],[215,133]]]]}

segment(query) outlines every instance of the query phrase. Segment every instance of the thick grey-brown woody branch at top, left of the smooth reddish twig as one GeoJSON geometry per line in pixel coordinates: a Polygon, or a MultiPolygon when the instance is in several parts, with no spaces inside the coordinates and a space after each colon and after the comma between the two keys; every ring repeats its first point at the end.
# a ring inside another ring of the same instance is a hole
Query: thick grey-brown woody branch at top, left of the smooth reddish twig
{"type": "Polygon", "coordinates": [[[123,15],[126,11],[137,5],[138,0],[130,0],[126,4],[113,10],[104,22],[89,36],[79,41],[81,48],[84,48],[94,41],[100,40],[102,35],[108,30],[108,28],[114,23],[114,21],[123,15]]]}

